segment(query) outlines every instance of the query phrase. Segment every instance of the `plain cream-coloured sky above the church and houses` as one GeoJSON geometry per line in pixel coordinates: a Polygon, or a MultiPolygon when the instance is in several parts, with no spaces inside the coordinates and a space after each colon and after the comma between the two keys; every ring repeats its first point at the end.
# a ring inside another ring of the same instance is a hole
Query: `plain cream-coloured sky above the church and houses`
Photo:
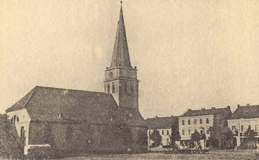
{"type": "MultiPolygon", "coordinates": [[[[34,86],[103,91],[119,0],[0,0],[0,113],[34,86]]],[[[259,104],[259,0],[123,0],[139,110],[259,104]]]]}

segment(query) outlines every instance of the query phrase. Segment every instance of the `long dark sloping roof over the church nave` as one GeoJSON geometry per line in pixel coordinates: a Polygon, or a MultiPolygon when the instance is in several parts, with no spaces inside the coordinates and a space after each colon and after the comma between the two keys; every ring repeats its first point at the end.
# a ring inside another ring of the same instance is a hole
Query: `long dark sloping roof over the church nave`
{"type": "Polygon", "coordinates": [[[32,121],[104,124],[117,117],[119,122],[141,125],[138,121],[142,118],[139,113],[131,111],[130,116],[118,108],[109,93],[42,86],[34,87],[6,112],[20,109],[26,109],[32,121]]]}

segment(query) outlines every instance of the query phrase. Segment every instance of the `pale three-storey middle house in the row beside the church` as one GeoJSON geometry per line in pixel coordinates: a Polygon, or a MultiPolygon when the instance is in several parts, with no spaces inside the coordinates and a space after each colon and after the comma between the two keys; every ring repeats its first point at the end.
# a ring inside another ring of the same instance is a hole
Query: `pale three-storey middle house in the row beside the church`
{"type": "Polygon", "coordinates": [[[206,148],[206,140],[210,137],[210,127],[217,127],[219,132],[226,129],[226,120],[231,116],[230,106],[226,108],[211,108],[200,110],[188,109],[187,112],[178,117],[179,133],[181,145],[188,146],[191,134],[199,132],[201,139],[199,144],[203,149],[206,148]],[[203,137],[202,137],[203,136],[203,137]]]}

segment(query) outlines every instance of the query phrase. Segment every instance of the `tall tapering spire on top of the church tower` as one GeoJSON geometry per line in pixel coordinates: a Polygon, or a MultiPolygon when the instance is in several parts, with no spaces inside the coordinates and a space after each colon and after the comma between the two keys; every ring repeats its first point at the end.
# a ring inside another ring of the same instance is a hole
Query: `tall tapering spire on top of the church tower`
{"type": "Polygon", "coordinates": [[[129,57],[129,49],[123,19],[122,6],[120,7],[120,17],[118,21],[117,33],[110,67],[117,66],[132,68],[129,57]]]}

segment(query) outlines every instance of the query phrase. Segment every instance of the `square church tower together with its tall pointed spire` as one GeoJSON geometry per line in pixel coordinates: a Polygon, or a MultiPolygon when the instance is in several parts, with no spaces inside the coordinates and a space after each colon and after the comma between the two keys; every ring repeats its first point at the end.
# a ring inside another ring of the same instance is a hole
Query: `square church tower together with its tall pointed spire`
{"type": "Polygon", "coordinates": [[[137,67],[132,67],[122,6],[110,67],[105,70],[104,91],[111,93],[120,108],[139,109],[137,67]]]}

